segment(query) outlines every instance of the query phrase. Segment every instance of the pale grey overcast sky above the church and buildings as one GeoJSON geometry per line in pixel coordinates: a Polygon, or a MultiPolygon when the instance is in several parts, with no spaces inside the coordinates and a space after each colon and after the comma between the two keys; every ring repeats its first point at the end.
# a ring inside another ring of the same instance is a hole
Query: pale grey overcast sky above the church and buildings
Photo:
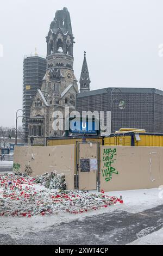
{"type": "Polygon", "coordinates": [[[70,12],[76,41],[77,80],[85,50],[91,90],[163,89],[162,0],[0,0],[0,126],[15,126],[15,112],[22,108],[23,57],[35,47],[46,56],[45,36],[63,7],[70,12]]]}

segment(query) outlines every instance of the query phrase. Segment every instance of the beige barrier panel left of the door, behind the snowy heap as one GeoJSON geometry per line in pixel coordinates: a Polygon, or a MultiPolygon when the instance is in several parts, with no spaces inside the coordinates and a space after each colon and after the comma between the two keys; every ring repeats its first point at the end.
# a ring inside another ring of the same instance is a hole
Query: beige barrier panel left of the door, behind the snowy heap
{"type": "Polygon", "coordinates": [[[24,172],[26,165],[32,170],[32,176],[57,170],[64,173],[67,189],[74,189],[74,145],[58,145],[51,147],[15,147],[14,163],[21,165],[24,172]]]}

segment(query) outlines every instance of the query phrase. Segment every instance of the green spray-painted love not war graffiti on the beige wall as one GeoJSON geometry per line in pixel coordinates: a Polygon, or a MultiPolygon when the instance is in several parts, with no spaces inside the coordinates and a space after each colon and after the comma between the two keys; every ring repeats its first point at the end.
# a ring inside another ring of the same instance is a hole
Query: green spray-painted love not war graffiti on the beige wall
{"type": "Polygon", "coordinates": [[[110,181],[112,179],[112,174],[118,174],[116,168],[112,167],[112,164],[116,161],[116,148],[114,149],[104,149],[103,160],[102,160],[102,175],[105,181],[110,181]]]}

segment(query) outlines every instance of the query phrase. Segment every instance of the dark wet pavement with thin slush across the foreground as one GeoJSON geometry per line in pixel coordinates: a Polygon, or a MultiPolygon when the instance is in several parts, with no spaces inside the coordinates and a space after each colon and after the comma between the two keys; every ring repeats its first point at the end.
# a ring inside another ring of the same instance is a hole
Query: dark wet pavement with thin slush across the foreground
{"type": "Polygon", "coordinates": [[[0,245],[126,245],[162,227],[163,205],[159,205],[136,214],[116,210],[55,223],[16,238],[0,233],[0,245]]]}

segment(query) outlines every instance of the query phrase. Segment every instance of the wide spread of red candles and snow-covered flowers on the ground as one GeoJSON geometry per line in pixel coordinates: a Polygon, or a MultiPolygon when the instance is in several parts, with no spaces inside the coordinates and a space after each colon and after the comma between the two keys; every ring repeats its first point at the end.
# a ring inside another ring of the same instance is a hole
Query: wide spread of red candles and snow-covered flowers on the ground
{"type": "Polygon", "coordinates": [[[37,186],[30,176],[0,175],[0,216],[79,214],[121,203],[119,198],[102,193],[49,190],[45,187],[39,191],[37,186]]]}

